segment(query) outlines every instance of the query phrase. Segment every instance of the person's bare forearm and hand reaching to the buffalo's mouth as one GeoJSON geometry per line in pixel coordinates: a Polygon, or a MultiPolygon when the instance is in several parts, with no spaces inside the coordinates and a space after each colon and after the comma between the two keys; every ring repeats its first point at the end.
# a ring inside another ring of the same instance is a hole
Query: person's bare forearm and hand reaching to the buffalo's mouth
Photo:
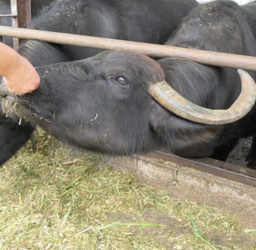
{"type": "Polygon", "coordinates": [[[14,49],[0,42],[0,76],[11,93],[24,95],[36,90],[40,83],[37,71],[14,49]]]}

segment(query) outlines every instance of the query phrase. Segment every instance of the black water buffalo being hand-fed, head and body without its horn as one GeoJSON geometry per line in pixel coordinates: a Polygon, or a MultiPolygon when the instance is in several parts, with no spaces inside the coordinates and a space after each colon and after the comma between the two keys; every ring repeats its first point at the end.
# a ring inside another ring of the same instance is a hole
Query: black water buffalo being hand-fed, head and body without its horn
{"type": "MultiPolygon", "coordinates": [[[[255,56],[255,11],[256,1],[200,5],[166,44],[255,56]]],[[[2,87],[4,110],[78,147],[131,154],[168,146],[181,156],[225,160],[255,131],[255,107],[236,122],[210,125],[174,115],[152,98],[152,84],[167,82],[192,103],[226,109],[241,91],[235,69],[117,51],[37,70],[41,85],[31,94],[16,98],[2,87]]]]}

